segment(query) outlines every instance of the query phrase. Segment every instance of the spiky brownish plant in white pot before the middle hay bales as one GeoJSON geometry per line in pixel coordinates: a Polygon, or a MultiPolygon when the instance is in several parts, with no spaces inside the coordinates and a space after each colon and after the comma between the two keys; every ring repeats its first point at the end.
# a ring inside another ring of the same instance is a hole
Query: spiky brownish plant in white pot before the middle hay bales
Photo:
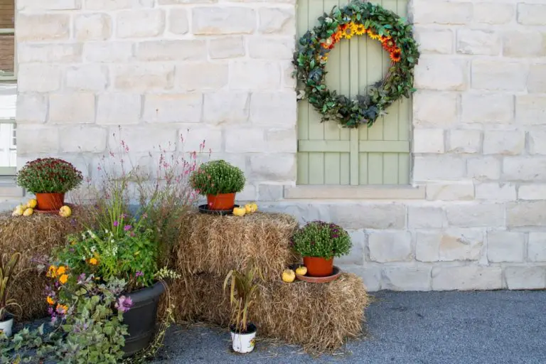
{"type": "Polygon", "coordinates": [[[259,269],[249,265],[245,271],[231,270],[225,277],[224,291],[230,284],[232,348],[237,353],[250,353],[255,347],[257,327],[249,321],[249,311],[258,293],[259,275],[259,269]]]}

